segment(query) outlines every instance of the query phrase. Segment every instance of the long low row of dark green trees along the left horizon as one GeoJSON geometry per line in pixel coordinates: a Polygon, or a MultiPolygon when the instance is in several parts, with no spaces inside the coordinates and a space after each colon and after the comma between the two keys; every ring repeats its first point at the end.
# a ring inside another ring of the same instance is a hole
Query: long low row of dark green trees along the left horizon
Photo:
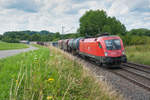
{"type": "Polygon", "coordinates": [[[61,35],[59,32],[52,33],[49,31],[11,31],[5,32],[3,35],[0,35],[0,40],[10,43],[18,43],[20,40],[57,41],[60,39],[76,38],[79,36],[79,34],[75,33],[61,35]]]}

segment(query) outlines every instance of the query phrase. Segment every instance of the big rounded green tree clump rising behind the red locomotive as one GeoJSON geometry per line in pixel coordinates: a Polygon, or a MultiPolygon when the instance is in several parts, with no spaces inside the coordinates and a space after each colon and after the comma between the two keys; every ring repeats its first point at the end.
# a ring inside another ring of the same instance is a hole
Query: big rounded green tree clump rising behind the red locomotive
{"type": "Polygon", "coordinates": [[[78,32],[82,36],[95,36],[96,34],[105,32],[124,35],[126,28],[115,17],[108,17],[105,11],[90,10],[80,18],[80,28],[78,32]]]}

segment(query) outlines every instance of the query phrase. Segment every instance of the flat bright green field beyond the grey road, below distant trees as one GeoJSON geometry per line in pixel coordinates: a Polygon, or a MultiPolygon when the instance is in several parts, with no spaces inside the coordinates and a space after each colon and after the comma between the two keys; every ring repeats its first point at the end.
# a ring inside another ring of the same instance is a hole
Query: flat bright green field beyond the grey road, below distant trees
{"type": "Polygon", "coordinates": [[[23,48],[28,48],[28,45],[20,43],[6,43],[0,41],[0,50],[23,49],[23,48]]]}

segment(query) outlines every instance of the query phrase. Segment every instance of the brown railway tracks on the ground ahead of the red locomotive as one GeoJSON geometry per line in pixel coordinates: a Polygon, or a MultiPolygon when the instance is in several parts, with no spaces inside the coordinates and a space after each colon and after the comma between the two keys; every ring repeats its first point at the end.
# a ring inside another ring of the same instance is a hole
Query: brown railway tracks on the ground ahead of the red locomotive
{"type": "Polygon", "coordinates": [[[118,70],[110,70],[114,74],[150,91],[150,66],[125,63],[118,70]]]}

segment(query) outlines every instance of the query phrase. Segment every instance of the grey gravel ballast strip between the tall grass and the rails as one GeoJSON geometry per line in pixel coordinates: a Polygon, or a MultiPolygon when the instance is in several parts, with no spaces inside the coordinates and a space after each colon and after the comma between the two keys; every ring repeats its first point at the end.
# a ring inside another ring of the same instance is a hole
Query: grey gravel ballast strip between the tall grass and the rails
{"type": "Polygon", "coordinates": [[[96,75],[97,79],[106,81],[127,100],[150,100],[150,91],[133,84],[111,71],[117,69],[102,68],[79,57],[75,57],[75,60],[92,71],[92,73],[96,75]]]}

